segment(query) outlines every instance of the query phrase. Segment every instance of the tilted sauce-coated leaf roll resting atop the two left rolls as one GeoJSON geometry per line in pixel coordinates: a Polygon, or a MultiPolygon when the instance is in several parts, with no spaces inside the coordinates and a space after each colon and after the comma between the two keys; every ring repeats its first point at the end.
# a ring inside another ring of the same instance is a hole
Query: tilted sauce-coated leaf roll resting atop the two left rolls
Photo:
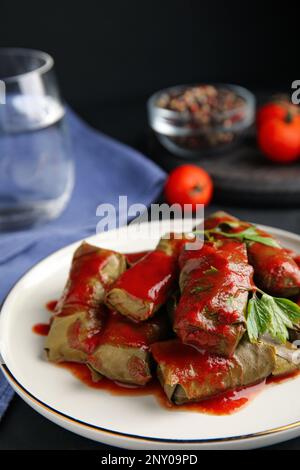
{"type": "Polygon", "coordinates": [[[145,321],[166,302],[178,275],[182,238],[162,238],[157,248],[125,271],[106,295],[112,310],[145,321]]]}

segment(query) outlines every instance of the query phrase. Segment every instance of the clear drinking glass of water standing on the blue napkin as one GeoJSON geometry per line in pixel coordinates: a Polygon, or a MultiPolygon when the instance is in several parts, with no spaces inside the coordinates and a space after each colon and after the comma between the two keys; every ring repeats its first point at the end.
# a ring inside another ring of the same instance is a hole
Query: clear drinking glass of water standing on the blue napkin
{"type": "Polygon", "coordinates": [[[74,168],[53,59],[0,48],[0,230],[57,217],[74,168]]]}

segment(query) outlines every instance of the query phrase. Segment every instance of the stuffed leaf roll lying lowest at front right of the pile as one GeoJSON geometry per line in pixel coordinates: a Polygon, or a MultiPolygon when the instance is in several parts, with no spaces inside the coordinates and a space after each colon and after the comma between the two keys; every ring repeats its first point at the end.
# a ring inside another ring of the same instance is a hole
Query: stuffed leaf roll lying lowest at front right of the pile
{"type": "Polygon", "coordinates": [[[275,367],[272,346],[246,340],[231,358],[201,353],[178,339],[155,343],[151,351],[164,392],[177,405],[258,383],[275,367]]]}

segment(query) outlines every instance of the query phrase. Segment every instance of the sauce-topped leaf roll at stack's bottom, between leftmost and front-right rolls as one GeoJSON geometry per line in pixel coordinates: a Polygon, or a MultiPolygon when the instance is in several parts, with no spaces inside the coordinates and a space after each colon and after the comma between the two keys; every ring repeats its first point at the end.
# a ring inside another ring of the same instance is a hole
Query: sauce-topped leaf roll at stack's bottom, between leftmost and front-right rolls
{"type": "Polygon", "coordinates": [[[126,384],[145,385],[152,377],[149,347],[169,332],[165,312],[143,323],[110,312],[98,347],[88,358],[93,377],[100,374],[126,384]]]}

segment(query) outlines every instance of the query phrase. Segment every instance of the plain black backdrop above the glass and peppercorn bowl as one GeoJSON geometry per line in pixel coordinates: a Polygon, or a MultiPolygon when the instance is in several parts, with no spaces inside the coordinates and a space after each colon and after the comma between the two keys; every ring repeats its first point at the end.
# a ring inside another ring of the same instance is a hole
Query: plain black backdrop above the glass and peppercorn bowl
{"type": "Polygon", "coordinates": [[[289,87],[299,69],[295,8],[256,0],[2,0],[0,43],[52,54],[64,95],[77,106],[140,100],[193,81],[289,87]]]}

